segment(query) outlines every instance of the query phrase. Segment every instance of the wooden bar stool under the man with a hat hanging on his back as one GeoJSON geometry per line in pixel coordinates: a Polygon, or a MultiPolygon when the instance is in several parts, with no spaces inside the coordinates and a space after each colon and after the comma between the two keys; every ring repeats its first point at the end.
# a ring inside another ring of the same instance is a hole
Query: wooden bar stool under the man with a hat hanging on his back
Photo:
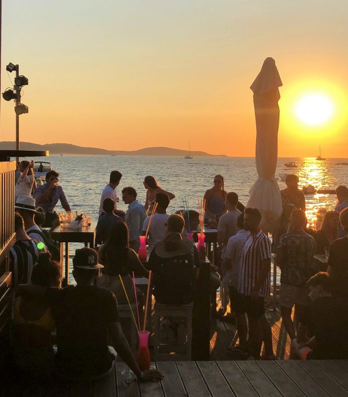
{"type": "Polygon", "coordinates": [[[170,305],[155,302],[154,306],[154,361],[191,360],[192,345],[192,303],[170,305]],[[161,317],[177,317],[187,320],[186,353],[160,353],[161,317]]]}

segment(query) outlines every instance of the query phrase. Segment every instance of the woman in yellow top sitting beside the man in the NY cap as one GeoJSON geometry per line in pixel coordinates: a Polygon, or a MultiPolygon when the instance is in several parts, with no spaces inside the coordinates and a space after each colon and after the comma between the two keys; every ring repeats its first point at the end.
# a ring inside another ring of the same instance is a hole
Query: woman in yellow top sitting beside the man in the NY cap
{"type": "MultiPolygon", "coordinates": [[[[31,283],[47,288],[60,287],[60,265],[51,260],[49,253],[39,254],[31,273],[31,283]]],[[[35,375],[53,371],[55,354],[51,333],[55,327],[46,299],[34,295],[16,298],[12,336],[13,356],[18,368],[35,375]]]]}

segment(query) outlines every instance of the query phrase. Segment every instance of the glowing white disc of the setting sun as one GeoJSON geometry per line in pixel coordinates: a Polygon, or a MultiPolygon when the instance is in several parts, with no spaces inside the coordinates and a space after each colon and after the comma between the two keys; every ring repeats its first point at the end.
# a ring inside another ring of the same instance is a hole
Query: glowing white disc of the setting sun
{"type": "Polygon", "coordinates": [[[317,125],[324,123],[332,116],[333,105],[324,95],[312,94],[300,99],[295,111],[304,123],[317,125]]]}

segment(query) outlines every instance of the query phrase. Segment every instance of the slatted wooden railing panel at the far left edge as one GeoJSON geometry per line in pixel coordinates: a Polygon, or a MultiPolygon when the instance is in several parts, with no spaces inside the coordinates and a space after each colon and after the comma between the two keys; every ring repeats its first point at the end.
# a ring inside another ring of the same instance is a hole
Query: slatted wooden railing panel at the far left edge
{"type": "Polygon", "coordinates": [[[15,161],[0,161],[0,265],[8,260],[14,242],[14,171],[15,161]]]}

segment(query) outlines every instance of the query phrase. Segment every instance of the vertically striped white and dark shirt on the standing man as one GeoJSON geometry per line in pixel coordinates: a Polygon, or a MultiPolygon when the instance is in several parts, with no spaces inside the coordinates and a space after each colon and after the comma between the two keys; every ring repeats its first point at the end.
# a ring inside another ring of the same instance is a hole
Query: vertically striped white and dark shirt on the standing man
{"type": "MultiPolygon", "coordinates": [[[[253,287],[260,277],[262,260],[271,258],[271,245],[268,237],[260,230],[250,236],[243,248],[241,260],[239,292],[251,295],[253,287]]],[[[268,297],[270,289],[270,271],[260,289],[260,297],[268,297]]]]}

